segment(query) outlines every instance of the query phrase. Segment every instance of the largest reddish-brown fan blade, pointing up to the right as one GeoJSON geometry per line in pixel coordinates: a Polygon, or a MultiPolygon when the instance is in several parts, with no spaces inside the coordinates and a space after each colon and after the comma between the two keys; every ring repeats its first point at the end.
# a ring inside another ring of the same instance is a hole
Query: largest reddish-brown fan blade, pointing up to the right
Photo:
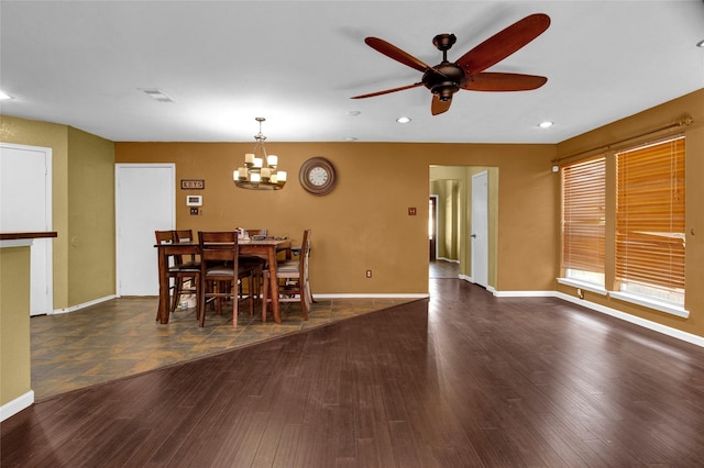
{"type": "Polygon", "coordinates": [[[494,34],[455,62],[469,75],[482,73],[515,53],[550,26],[550,16],[536,13],[494,34]]]}

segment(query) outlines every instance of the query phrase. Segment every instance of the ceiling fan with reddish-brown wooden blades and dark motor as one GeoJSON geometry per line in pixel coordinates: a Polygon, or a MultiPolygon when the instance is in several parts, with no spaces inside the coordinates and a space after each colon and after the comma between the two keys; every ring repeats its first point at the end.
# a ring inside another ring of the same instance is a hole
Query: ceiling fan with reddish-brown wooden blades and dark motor
{"type": "Polygon", "coordinates": [[[438,34],[432,43],[442,51],[442,62],[433,67],[424,64],[413,55],[378,37],[366,37],[364,42],[406,66],[422,71],[420,81],[400,88],[354,96],[351,99],[372,98],[389,92],[425,86],[432,92],[430,111],[433,115],[450,109],[452,96],[460,89],[469,91],[527,91],[540,88],[548,78],[535,75],[484,71],[508,57],[542,34],[550,26],[550,16],[536,13],[517,21],[499,31],[460,57],[448,62],[448,51],[457,42],[454,34],[438,34]]]}

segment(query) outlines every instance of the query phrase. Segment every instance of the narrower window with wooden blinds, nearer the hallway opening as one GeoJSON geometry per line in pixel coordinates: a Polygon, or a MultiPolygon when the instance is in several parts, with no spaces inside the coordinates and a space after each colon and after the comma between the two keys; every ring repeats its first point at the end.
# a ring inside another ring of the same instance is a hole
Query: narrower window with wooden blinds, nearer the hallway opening
{"type": "Polygon", "coordinates": [[[562,168],[562,268],[566,278],[604,286],[605,158],[562,168]]]}

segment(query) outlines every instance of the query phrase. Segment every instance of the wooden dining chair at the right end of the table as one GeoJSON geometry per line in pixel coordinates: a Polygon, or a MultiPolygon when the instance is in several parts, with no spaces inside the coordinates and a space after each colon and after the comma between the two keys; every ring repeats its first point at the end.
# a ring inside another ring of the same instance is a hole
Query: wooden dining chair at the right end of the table
{"type": "Polygon", "coordinates": [[[300,302],[304,320],[308,320],[308,311],[312,303],[312,293],[308,280],[308,257],[310,256],[310,232],[304,231],[298,259],[283,260],[276,264],[276,278],[272,279],[268,269],[264,270],[264,287],[262,297],[262,322],[266,322],[266,311],[271,281],[276,282],[278,302],[300,302]]]}

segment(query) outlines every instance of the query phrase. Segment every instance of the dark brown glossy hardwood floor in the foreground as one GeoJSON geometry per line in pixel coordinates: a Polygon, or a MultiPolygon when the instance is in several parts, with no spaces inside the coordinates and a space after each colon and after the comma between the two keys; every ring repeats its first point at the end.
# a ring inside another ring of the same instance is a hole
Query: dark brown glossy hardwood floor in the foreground
{"type": "Polygon", "coordinates": [[[3,467],[701,467],[704,349],[558,299],[430,299],[44,399],[3,467]]]}

